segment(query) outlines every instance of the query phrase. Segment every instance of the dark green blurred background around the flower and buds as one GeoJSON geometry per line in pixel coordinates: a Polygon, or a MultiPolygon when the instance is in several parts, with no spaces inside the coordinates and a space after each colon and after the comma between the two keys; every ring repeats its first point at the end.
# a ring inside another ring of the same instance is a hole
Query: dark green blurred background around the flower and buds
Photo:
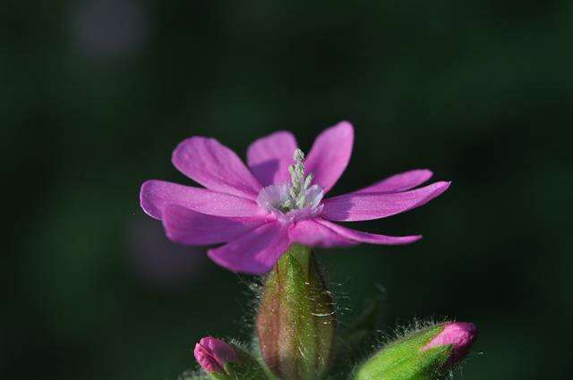
{"type": "Polygon", "coordinates": [[[319,251],[342,325],[382,293],[388,330],[479,325],[460,378],[569,377],[572,2],[4,1],[0,30],[2,378],[175,380],[201,336],[248,339],[254,279],[167,241],[141,182],[190,184],[192,135],[308,150],[343,119],[333,193],[453,185],[353,225],[419,243],[319,251]]]}

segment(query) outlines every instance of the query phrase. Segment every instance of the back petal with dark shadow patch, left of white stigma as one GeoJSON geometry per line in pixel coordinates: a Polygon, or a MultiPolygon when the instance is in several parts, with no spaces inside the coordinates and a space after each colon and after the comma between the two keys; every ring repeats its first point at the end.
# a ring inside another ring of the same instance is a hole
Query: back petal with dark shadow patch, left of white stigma
{"type": "Polygon", "coordinates": [[[297,148],[291,132],[278,131],[255,140],[247,149],[247,164],[262,186],[290,181],[288,165],[297,148]]]}

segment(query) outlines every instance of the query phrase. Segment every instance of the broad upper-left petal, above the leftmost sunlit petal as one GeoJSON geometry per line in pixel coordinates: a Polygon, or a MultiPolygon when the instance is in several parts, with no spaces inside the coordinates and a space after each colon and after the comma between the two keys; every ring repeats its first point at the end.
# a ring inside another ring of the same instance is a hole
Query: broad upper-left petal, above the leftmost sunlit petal
{"type": "Polygon", "coordinates": [[[255,198],[261,190],[243,161],[216,139],[185,139],[173,152],[173,165],[209,190],[239,197],[255,198]]]}

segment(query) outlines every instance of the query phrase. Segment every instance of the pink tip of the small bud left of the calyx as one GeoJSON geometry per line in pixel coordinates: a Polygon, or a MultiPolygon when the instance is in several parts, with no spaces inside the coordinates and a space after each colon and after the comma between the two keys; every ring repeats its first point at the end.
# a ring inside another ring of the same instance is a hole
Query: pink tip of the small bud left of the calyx
{"type": "Polygon", "coordinates": [[[207,372],[225,372],[225,365],[230,361],[238,361],[236,351],[226,342],[206,336],[195,344],[193,350],[195,359],[207,372]]]}

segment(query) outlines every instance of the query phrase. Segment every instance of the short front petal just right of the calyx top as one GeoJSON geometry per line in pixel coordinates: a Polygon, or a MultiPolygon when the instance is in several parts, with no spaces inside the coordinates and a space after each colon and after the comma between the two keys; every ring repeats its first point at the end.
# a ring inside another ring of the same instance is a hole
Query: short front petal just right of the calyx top
{"type": "Polygon", "coordinates": [[[312,219],[295,224],[288,232],[288,237],[293,242],[310,247],[346,247],[358,244],[312,219]]]}

